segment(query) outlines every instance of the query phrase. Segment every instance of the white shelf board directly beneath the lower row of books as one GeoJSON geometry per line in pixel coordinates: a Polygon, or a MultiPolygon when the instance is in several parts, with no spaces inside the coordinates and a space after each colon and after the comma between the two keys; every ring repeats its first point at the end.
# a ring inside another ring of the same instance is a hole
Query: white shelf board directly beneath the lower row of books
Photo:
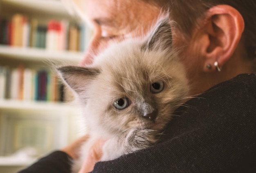
{"type": "Polygon", "coordinates": [[[60,102],[45,102],[45,101],[21,101],[21,100],[0,100],[0,109],[11,110],[61,110],[61,111],[74,111],[77,106],[71,103],[60,102]]]}

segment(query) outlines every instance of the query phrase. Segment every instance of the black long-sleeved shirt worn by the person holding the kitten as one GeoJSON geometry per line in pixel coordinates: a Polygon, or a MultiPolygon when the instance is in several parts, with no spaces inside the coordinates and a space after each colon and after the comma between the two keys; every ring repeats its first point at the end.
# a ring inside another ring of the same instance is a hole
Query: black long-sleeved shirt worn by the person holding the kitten
{"type": "MultiPolygon", "coordinates": [[[[161,142],[98,162],[93,173],[256,173],[256,74],[222,82],[174,114],[161,142]]],[[[56,155],[66,154],[52,153],[20,173],[69,172],[68,156],[63,162],[56,155]]]]}

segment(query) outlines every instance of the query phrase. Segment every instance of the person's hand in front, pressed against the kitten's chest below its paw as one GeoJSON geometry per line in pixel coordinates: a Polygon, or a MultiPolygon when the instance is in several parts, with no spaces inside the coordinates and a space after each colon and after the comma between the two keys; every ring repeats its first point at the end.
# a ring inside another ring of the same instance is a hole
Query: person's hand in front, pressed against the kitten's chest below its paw
{"type": "Polygon", "coordinates": [[[89,153],[86,156],[83,165],[78,173],[89,173],[93,170],[94,165],[101,160],[101,157],[103,155],[102,147],[105,142],[106,140],[99,140],[90,148],[89,153]]]}

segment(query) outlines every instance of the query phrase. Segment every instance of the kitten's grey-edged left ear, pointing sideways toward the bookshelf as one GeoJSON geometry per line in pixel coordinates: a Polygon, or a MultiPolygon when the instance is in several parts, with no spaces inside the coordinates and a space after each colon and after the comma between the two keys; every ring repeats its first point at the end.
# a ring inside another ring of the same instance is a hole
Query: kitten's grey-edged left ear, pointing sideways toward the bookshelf
{"type": "Polygon", "coordinates": [[[76,66],[59,67],[57,71],[63,81],[76,93],[85,91],[90,81],[94,80],[101,72],[95,68],[76,66]]]}

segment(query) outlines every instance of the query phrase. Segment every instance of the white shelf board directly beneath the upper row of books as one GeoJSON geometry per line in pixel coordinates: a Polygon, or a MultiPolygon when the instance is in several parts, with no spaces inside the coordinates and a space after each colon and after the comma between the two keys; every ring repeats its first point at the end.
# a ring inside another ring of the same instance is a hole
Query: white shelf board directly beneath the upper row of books
{"type": "Polygon", "coordinates": [[[78,64],[84,56],[81,52],[49,51],[37,48],[0,46],[0,56],[31,61],[74,62],[78,64]]]}

